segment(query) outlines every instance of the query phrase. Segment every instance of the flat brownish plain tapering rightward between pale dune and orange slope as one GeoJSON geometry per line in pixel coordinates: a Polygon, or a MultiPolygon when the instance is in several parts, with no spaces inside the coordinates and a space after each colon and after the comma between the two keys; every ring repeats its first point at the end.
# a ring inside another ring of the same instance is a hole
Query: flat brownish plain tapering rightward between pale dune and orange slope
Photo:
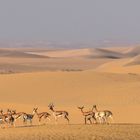
{"type": "Polygon", "coordinates": [[[110,59],[1,57],[0,73],[83,71],[94,69],[108,61],[110,59]]]}

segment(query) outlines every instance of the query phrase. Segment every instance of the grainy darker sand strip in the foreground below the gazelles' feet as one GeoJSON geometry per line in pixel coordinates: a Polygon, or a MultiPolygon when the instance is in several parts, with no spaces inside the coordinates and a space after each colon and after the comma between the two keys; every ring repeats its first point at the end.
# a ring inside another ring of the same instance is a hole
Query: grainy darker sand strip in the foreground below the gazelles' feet
{"type": "Polygon", "coordinates": [[[2,140],[139,140],[139,125],[46,125],[0,130],[2,140]]]}

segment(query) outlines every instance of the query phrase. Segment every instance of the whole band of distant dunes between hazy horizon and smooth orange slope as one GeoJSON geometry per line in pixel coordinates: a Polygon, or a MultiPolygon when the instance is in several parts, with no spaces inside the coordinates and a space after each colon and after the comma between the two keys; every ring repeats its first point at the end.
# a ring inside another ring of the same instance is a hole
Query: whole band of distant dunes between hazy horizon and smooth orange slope
{"type": "Polygon", "coordinates": [[[139,46],[82,49],[1,48],[0,73],[58,70],[140,73],[139,56],[139,46]]]}

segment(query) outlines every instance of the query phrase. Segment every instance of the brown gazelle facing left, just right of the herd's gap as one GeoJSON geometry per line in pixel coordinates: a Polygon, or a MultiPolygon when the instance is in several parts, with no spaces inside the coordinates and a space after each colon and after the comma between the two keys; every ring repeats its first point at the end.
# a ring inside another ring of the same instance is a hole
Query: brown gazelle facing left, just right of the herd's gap
{"type": "Polygon", "coordinates": [[[84,106],[78,107],[78,109],[81,110],[82,115],[83,115],[84,118],[85,118],[85,124],[87,124],[87,120],[90,121],[90,124],[92,124],[91,119],[93,119],[93,120],[96,122],[95,113],[94,113],[93,111],[86,111],[86,112],[84,112],[84,111],[83,111],[84,106]]]}

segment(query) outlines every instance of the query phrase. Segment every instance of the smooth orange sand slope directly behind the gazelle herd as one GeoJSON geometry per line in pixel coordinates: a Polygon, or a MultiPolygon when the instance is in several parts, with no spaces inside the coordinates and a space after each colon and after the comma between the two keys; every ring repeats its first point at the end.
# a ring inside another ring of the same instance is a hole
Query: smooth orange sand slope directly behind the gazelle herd
{"type": "Polygon", "coordinates": [[[57,109],[69,111],[71,123],[83,122],[77,106],[88,110],[97,104],[111,110],[115,122],[140,123],[139,81],[139,75],[93,71],[0,75],[0,102],[2,108],[28,112],[35,106],[48,110],[54,102],[57,109]]]}

